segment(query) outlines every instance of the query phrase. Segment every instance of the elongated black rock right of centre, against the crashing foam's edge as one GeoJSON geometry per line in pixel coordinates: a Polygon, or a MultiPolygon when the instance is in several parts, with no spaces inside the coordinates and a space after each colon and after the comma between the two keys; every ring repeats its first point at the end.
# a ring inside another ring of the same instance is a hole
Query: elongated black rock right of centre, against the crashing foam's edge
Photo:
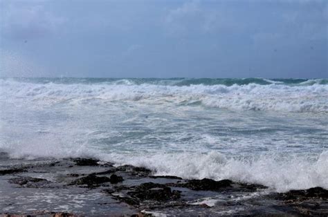
{"type": "Polygon", "coordinates": [[[209,178],[203,178],[202,180],[188,180],[184,183],[174,184],[176,187],[185,187],[194,191],[218,191],[220,189],[231,187],[233,184],[230,180],[215,181],[209,178]]]}

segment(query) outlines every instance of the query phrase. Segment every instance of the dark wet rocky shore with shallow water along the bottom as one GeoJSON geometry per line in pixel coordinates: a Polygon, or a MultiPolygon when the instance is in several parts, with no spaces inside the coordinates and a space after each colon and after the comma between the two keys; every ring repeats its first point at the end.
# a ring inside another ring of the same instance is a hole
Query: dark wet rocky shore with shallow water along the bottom
{"type": "Polygon", "coordinates": [[[10,160],[0,153],[0,216],[328,215],[328,191],[320,187],[275,193],[154,174],[93,158],[10,160]]]}

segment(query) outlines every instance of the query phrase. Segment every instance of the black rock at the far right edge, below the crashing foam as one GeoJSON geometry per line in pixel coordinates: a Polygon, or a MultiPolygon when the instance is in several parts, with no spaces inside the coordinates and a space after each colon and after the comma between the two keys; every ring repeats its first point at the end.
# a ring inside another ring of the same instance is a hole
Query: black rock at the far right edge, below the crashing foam
{"type": "Polygon", "coordinates": [[[322,187],[313,187],[306,190],[291,190],[286,193],[278,194],[282,200],[307,200],[307,199],[328,199],[328,190],[322,187]]]}

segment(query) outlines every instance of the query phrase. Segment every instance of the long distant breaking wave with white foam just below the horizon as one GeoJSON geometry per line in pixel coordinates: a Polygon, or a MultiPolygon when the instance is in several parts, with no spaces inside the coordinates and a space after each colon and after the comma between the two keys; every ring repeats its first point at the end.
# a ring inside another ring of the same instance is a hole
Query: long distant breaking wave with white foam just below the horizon
{"type": "Polygon", "coordinates": [[[28,97],[30,100],[52,104],[79,103],[85,100],[146,100],[149,104],[155,101],[182,106],[199,104],[232,110],[328,112],[328,84],[325,84],[325,79],[275,79],[271,84],[267,84],[270,82],[268,79],[146,80],[113,79],[96,82],[94,79],[83,79],[80,82],[58,82],[56,79],[36,79],[32,82],[30,79],[0,79],[0,86],[1,97],[28,97]],[[218,81],[231,83],[215,84],[218,81]]]}

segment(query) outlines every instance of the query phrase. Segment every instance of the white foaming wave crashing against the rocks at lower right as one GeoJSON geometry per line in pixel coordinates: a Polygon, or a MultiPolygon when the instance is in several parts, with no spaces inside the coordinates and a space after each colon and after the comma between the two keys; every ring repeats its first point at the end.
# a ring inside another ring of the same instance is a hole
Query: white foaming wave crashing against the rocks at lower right
{"type": "Polygon", "coordinates": [[[280,158],[277,154],[243,160],[226,158],[214,151],[208,154],[158,154],[129,158],[111,155],[108,159],[116,159],[120,164],[148,167],[156,170],[156,175],[230,179],[265,185],[279,192],[311,187],[328,189],[328,151],[322,152],[317,160],[292,155],[280,158]]]}

